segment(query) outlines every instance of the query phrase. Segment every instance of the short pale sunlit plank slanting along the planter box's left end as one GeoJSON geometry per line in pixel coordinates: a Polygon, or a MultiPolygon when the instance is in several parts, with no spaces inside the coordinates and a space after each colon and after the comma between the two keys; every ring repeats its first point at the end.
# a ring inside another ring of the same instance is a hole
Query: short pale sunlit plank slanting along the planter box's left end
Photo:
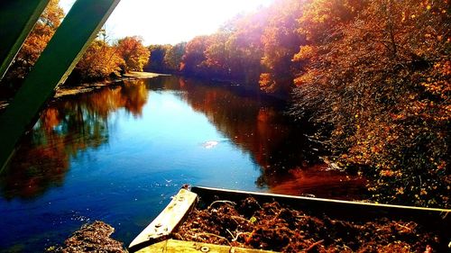
{"type": "Polygon", "coordinates": [[[168,236],[196,203],[198,194],[180,189],[166,208],[135,239],[129,248],[135,250],[168,236]]]}

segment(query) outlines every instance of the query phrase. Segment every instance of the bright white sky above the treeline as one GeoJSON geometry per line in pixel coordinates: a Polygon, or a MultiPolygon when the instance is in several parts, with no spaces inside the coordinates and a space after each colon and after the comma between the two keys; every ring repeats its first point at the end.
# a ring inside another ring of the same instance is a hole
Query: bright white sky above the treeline
{"type": "MultiPolygon", "coordinates": [[[[236,14],[274,0],[121,0],[106,22],[114,38],[139,35],[144,44],[175,44],[211,34],[236,14]]],[[[75,0],[60,0],[68,13],[75,0]]]]}

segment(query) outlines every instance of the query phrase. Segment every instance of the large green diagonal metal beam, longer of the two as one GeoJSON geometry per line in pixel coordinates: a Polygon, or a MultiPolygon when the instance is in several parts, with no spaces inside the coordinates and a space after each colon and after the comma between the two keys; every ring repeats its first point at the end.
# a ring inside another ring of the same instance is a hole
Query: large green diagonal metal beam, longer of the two
{"type": "Polygon", "coordinates": [[[83,56],[120,0],[78,0],[60,24],[41,57],[0,114],[0,172],[41,108],[83,56]]]}

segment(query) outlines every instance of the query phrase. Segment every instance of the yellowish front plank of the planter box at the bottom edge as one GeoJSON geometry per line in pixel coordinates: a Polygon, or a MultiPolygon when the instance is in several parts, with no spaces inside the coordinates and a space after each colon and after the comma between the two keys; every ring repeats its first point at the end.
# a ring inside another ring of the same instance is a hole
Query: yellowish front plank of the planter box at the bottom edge
{"type": "Polygon", "coordinates": [[[195,241],[185,241],[178,239],[167,239],[159,243],[152,244],[149,247],[143,248],[137,253],[274,253],[275,251],[268,251],[253,248],[238,248],[226,245],[216,245],[210,243],[202,243],[195,241]]]}

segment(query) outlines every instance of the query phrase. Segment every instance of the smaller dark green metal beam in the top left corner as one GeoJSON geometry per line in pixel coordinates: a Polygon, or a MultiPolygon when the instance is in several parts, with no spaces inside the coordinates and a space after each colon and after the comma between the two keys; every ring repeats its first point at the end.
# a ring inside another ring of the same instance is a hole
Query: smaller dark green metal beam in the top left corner
{"type": "Polygon", "coordinates": [[[0,79],[50,0],[0,1],[0,79]]]}

